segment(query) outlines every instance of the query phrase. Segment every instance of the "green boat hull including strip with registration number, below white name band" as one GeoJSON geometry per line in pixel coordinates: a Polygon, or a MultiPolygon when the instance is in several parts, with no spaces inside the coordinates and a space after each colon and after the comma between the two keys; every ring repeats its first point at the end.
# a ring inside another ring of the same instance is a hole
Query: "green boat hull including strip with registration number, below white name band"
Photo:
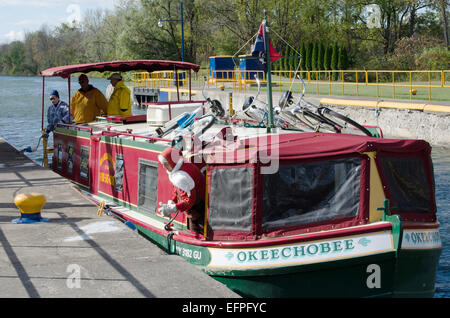
{"type": "Polygon", "coordinates": [[[243,297],[433,297],[442,250],[394,250],[299,266],[211,270],[206,247],[176,242],[137,227],[167,252],[182,256],[243,297]]]}

